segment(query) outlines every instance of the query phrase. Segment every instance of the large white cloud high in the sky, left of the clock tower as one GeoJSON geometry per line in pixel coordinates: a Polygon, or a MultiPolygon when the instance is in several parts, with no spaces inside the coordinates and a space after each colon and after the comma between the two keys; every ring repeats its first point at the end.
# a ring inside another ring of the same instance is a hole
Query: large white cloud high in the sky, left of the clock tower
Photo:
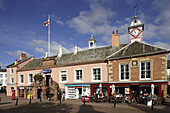
{"type": "Polygon", "coordinates": [[[81,11],[79,16],[72,18],[67,23],[80,34],[103,34],[112,30],[109,18],[113,18],[115,12],[95,2],[90,4],[89,11],[81,11]]]}

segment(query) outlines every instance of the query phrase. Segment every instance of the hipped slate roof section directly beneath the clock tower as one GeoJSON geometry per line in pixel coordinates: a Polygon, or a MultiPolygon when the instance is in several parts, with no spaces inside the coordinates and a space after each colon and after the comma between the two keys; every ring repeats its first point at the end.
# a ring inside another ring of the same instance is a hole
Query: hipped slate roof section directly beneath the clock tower
{"type": "Polygon", "coordinates": [[[142,55],[151,55],[156,53],[169,52],[169,50],[153,46],[144,42],[129,43],[125,47],[121,48],[117,52],[108,56],[106,59],[119,59],[127,57],[136,57],[142,55]]]}

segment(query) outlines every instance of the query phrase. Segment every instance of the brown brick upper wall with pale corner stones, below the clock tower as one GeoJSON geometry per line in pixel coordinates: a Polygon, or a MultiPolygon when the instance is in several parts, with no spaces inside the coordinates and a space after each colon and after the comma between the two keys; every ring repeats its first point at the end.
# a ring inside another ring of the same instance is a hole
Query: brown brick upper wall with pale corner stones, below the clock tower
{"type": "Polygon", "coordinates": [[[167,80],[167,54],[111,60],[108,62],[109,82],[120,81],[119,65],[129,63],[129,81],[140,80],[140,62],[151,61],[151,80],[167,80]],[[132,61],[138,61],[137,66],[132,66],[132,61]]]}

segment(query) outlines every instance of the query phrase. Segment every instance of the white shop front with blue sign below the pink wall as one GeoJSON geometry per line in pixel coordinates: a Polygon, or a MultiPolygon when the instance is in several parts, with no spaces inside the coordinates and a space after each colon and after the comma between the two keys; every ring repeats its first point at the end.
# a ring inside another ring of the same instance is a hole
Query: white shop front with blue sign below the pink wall
{"type": "Polygon", "coordinates": [[[90,84],[65,84],[65,98],[81,99],[90,95],[90,84]]]}

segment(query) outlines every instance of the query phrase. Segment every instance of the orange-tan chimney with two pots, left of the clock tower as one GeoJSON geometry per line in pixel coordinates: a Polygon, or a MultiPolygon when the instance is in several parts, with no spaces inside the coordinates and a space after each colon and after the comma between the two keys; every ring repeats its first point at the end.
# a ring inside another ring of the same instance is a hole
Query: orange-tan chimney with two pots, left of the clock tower
{"type": "Polygon", "coordinates": [[[118,34],[118,30],[116,30],[116,34],[113,31],[112,34],[112,47],[118,47],[119,46],[119,34],[118,34]]]}

